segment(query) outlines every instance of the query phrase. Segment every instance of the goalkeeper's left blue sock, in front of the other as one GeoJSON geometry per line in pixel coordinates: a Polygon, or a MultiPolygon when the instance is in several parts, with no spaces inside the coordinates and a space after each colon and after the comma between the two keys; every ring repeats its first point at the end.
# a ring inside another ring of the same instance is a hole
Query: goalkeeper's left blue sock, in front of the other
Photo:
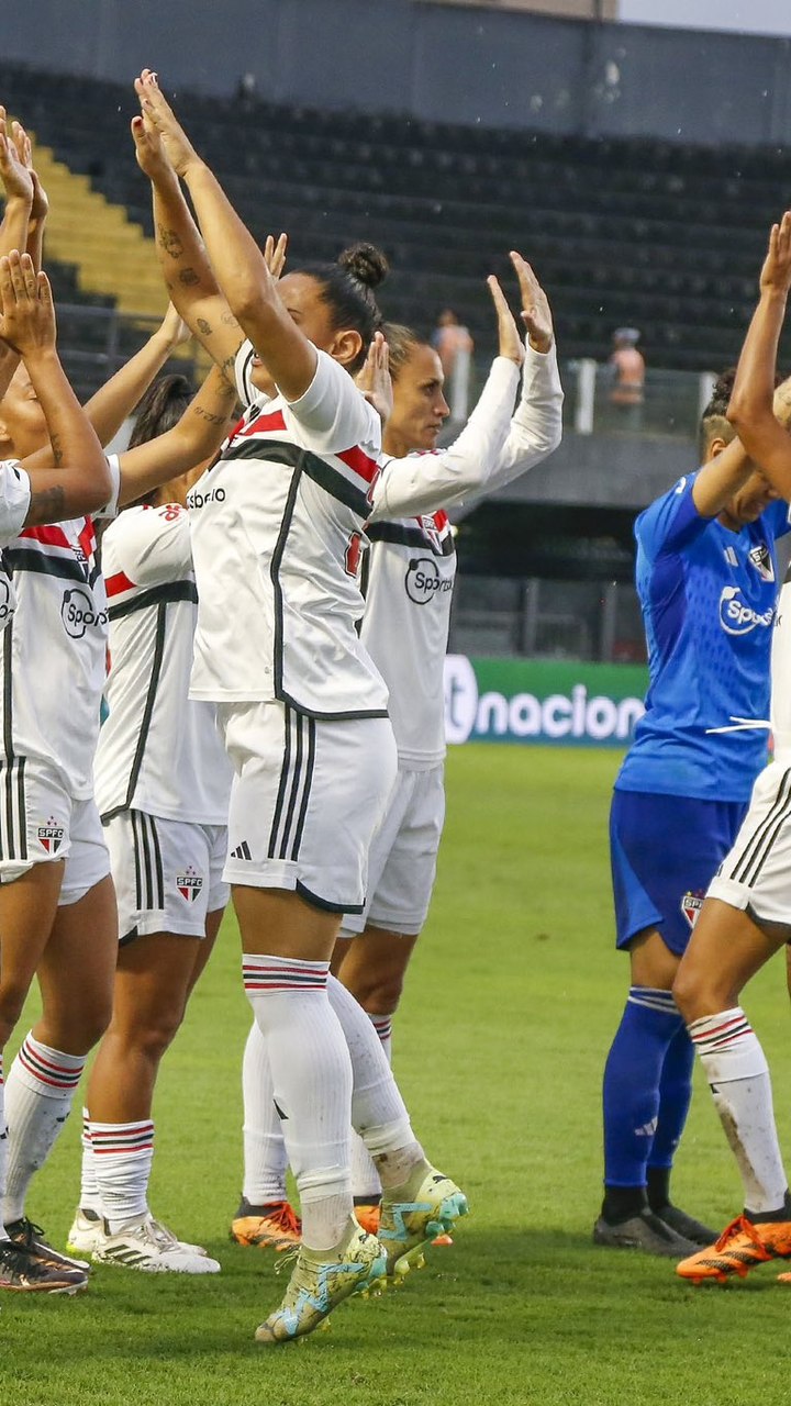
{"type": "Polygon", "coordinates": [[[647,1204],[646,1168],[657,1128],[662,1071],[680,1028],[683,1019],[670,991],[629,988],[604,1069],[605,1215],[625,1218],[647,1204]],[[621,1188],[628,1194],[619,1195],[621,1188]]]}

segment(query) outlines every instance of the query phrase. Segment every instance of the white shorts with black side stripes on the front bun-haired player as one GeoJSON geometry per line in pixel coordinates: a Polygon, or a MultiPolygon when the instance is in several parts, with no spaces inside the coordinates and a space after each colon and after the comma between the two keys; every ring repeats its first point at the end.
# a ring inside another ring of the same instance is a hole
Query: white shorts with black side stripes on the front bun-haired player
{"type": "Polygon", "coordinates": [[[360,912],[370,839],[396,779],[390,720],[327,723],[283,703],[222,703],[217,724],[234,765],[228,883],[360,912]]]}

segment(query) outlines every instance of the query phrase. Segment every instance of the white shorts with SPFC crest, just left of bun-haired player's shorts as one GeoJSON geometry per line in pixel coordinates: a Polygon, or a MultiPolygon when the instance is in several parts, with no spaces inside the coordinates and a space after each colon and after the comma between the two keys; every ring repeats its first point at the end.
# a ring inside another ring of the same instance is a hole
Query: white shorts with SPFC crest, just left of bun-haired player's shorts
{"type": "Polygon", "coordinates": [[[118,896],[121,946],[151,932],[205,936],[205,918],[228,903],[225,825],[124,810],[104,825],[118,896]]]}

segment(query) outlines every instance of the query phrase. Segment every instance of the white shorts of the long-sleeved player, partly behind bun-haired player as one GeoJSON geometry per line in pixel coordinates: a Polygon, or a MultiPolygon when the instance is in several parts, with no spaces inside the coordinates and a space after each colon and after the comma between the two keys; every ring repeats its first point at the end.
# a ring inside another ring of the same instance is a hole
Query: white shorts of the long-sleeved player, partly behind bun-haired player
{"type": "Polygon", "coordinates": [[[366,924],[415,936],[425,924],[445,821],[445,766],[400,770],[369,852],[369,890],[359,915],[343,918],[355,936],[366,924]]]}

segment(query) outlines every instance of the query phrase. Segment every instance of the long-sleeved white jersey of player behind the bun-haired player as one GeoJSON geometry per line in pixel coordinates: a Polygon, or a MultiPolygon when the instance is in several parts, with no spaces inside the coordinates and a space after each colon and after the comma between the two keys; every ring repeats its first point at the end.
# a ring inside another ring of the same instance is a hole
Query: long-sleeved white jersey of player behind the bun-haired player
{"type": "MultiPolygon", "coordinates": [[[[448,502],[493,492],[557,447],[563,389],[555,350],[543,356],[526,347],[522,394],[512,418],[515,367],[511,371],[511,363],[498,363],[455,444],[384,461],[383,501],[403,492],[396,482],[390,491],[391,475],[412,472],[425,478],[434,495],[446,486],[448,502]]],[[[424,770],[445,756],[443,661],[456,547],[443,510],[386,520],[381,512],[377,503],[367,526],[372,546],[360,638],[390,692],[398,765],[424,770]]]]}

